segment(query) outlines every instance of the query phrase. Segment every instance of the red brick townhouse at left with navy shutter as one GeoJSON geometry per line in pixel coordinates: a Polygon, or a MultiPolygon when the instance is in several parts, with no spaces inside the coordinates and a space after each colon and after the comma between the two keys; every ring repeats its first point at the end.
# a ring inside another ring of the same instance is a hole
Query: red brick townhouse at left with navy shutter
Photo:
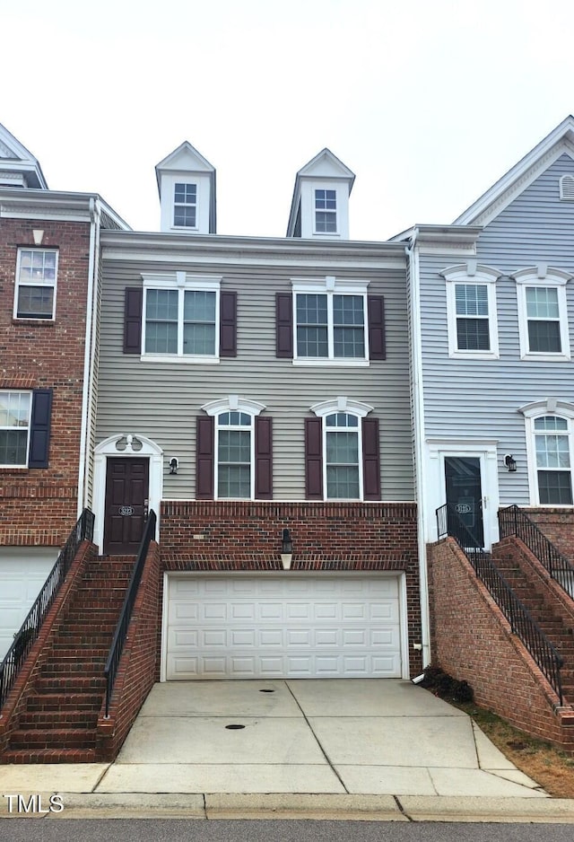
{"type": "Polygon", "coordinates": [[[0,126],[0,658],[91,502],[97,195],[48,190],[0,126]]]}

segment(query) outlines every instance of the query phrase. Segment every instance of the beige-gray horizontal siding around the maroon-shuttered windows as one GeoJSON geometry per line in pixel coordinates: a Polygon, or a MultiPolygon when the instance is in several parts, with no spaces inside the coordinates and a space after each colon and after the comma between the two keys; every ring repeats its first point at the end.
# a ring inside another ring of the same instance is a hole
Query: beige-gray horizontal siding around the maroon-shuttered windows
{"type": "Polygon", "coordinates": [[[346,395],[371,404],[378,417],[382,498],[413,500],[409,367],[404,271],[347,271],[341,266],[284,268],[205,264],[104,263],[101,307],[97,441],[118,433],[143,434],[165,456],[177,456],[176,477],[164,474],[165,498],[193,498],[196,417],[201,406],[229,394],[265,404],[274,419],[274,499],[304,499],[303,419],[321,400],[346,395]],[[238,356],[219,364],[142,361],[122,353],[124,290],[141,285],[142,272],[222,276],[222,291],[238,293],[238,356]],[[385,295],[387,360],[369,367],[297,366],[275,358],[275,293],[290,292],[291,276],[361,277],[370,294],[385,295]]]}

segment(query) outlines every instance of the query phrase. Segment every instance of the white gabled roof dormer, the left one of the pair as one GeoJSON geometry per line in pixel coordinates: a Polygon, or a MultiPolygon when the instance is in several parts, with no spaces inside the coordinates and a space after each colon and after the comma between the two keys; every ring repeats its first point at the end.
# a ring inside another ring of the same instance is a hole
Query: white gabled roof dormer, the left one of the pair
{"type": "Polygon", "coordinates": [[[161,231],[215,233],[215,170],[184,141],[155,168],[161,231]]]}

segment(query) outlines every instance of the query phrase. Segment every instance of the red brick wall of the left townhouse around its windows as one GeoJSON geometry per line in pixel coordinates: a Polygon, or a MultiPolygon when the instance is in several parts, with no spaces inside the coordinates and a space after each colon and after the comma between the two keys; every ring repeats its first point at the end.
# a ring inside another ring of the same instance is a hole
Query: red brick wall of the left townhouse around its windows
{"type": "Polygon", "coordinates": [[[90,225],[2,219],[0,389],[53,389],[47,469],[0,470],[0,545],[60,546],[76,519],[90,225]],[[58,247],[55,321],[14,320],[18,246],[58,247]]]}

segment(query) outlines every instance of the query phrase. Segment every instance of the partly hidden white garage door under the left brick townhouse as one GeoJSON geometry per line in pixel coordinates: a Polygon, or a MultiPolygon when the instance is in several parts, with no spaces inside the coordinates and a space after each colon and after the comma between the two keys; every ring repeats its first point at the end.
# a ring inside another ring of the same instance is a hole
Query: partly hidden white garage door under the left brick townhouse
{"type": "Polygon", "coordinates": [[[0,661],[57,559],[57,548],[0,549],[0,661]]]}

